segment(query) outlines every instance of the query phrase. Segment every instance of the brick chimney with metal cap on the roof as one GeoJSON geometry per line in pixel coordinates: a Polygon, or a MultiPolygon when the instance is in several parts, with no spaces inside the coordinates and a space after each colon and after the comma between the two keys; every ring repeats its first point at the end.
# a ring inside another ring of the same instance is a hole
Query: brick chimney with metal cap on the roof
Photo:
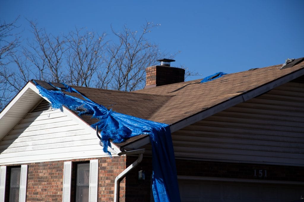
{"type": "Polygon", "coordinates": [[[185,69],[170,67],[175,60],[160,59],[161,65],[146,68],[146,86],[151,88],[185,81],[185,69]]]}

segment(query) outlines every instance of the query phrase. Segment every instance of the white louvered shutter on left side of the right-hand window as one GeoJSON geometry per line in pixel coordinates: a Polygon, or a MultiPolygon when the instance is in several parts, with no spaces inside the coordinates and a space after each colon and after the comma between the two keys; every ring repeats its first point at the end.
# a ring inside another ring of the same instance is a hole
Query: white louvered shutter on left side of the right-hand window
{"type": "Polygon", "coordinates": [[[62,190],[63,202],[70,202],[71,199],[71,175],[72,175],[72,161],[65,161],[63,168],[63,190],[62,190]]]}

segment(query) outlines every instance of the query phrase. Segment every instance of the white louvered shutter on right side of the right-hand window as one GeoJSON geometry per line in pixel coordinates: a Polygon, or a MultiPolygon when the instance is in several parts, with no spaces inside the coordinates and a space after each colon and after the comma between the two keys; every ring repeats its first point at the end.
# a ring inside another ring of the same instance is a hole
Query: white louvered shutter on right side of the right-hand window
{"type": "Polygon", "coordinates": [[[98,159],[90,160],[89,202],[96,202],[98,195],[98,159]]]}

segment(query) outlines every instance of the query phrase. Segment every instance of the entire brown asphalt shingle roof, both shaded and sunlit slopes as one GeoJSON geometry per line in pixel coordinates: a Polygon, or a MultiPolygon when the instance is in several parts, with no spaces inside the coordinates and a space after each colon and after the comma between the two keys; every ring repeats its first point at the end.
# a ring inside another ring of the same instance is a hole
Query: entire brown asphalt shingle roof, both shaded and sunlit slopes
{"type": "MultiPolygon", "coordinates": [[[[156,122],[174,124],[235,96],[245,94],[303,69],[304,61],[285,69],[280,69],[280,67],[282,65],[226,74],[205,83],[200,83],[202,79],[196,79],[133,92],[72,87],[92,101],[113,111],[156,122]]],[[[79,97],[77,93],[67,94],[79,97]]],[[[82,118],[89,124],[97,121],[91,120],[90,116],[82,118]]]]}

